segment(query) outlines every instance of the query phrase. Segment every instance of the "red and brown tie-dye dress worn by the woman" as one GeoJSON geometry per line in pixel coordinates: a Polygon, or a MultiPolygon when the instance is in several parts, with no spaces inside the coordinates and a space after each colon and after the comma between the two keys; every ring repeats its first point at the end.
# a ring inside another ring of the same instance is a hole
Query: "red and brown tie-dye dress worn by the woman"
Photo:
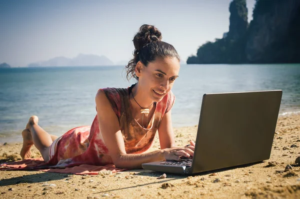
{"type": "MultiPolygon", "coordinates": [[[[129,94],[133,86],[101,89],[118,118],[127,154],[139,154],[151,147],[163,115],[171,109],[175,100],[170,91],[156,103],[153,116],[145,129],[132,117],[129,108],[129,94]]],[[[97,116],[91,126],[73,128],[57,138],[50,146],[49,158],[48,164],[60,168],[82,164],[97,166],[113,164],[99,130],[97,116]]]]}

